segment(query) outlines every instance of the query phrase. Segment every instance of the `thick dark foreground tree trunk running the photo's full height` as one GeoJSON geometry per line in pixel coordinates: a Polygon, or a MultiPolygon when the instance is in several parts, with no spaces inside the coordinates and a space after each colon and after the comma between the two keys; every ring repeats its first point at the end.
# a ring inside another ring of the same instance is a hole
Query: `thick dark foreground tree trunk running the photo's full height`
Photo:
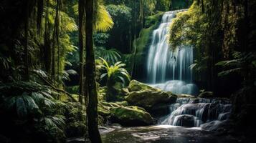
{"type": "Polygon", "coordinates": [[[95,57],[93,50],[93,8],[94,0],[87,0],[86,11],[86,80],[89,102],[87,106],[88,133],[92,143],[101,143],[98,130],[98,96],[95,82],[95,57]]]}

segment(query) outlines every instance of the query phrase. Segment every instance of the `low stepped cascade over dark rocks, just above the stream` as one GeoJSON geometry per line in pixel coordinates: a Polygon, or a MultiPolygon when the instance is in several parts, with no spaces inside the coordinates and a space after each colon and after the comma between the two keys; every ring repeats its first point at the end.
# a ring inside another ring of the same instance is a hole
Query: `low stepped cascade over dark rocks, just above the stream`
{"type": "Polygon", "coordinates": [[[179,98],[170,105],[170,114],[159,120],[159,124],[184,127],[201,127],[228,119],[231,112],[228,99],[179,98]]]}

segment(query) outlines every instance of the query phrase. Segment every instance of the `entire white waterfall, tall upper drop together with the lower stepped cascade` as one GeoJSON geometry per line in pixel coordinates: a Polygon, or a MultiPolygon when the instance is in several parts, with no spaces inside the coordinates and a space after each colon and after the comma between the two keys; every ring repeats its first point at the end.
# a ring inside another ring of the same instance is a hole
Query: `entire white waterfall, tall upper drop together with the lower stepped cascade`
{"type": "MultiPolygon", "coordinates": [[[[169,26],[180,11],[184,10],[163,14],[160,26],[153,31],[148,51],[148,82],[166,92],[196,95],[198,88],[192,83],[189,68],[193,64],[193,48],[180,46],[172,51],[168,44],[169,26]]],[[[179,98],[170,105],[170,114],[159,119],[158,124],[211,128],[228,119],[230,112],[227,99],[179,98]]]]}

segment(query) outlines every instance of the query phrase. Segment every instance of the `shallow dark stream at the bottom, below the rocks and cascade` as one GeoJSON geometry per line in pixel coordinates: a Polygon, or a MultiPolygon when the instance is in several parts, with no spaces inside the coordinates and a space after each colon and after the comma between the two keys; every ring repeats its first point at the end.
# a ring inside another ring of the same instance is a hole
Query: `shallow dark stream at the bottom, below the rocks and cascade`
{"type": "Polygon", "coordinates": [[[102,132],[104,143],[227,143],[242,142],[234,137],[219,137],[215,132],[208,132],[199,127],[186,128],[171,125],[157,125],[149,127],[129,127],[102,132]]]}

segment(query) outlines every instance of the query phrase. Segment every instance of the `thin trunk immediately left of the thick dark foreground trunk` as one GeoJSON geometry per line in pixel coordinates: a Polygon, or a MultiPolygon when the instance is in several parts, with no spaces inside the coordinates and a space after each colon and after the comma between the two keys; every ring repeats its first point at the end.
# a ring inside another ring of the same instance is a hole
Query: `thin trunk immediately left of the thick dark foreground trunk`
{"type": "Polygon", "coordinates": [[[82,96],[85,94],[84,81],[84,21],[85,21],[85,0],[79,0],[79,47],[80,47],[80,96],[79,102],[82,104],[82,96]]]}

